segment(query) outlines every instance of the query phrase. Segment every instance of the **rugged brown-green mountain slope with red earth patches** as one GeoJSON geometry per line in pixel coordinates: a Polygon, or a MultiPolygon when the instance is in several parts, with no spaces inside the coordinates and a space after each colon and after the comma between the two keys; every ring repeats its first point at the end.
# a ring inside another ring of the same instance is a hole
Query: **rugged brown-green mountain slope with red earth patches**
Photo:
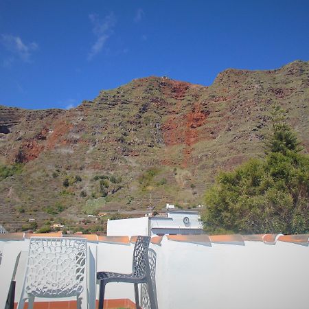
{"type": "Polygon", "coordinates": [[[0,224],[146,209],[150,195],[157,209],[203,204],[219,170],[263,155],[273,104],[308,152],[309,62],[299,60],[227,69],[209,87],[139,78],[70,110],[0,106],[0,224]]]}

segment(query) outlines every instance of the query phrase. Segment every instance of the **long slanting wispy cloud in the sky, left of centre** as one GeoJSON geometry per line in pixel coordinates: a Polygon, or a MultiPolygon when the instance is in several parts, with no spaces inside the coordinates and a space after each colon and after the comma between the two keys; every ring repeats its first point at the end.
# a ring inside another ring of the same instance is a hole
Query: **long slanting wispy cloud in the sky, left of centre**
{"type": "Polygon", "coordinates": [[[90,14],[89,19],[93,25],[93,34],[97,37],[88,54],[88,60],[91,60],[102,51],[106,41],[113,34],[113,27],[115,27],[116,24],[116,17],[115,14],[111,12],[111,14],[105,16],[103,20],[100,20],[97,14],[90,14]]]}

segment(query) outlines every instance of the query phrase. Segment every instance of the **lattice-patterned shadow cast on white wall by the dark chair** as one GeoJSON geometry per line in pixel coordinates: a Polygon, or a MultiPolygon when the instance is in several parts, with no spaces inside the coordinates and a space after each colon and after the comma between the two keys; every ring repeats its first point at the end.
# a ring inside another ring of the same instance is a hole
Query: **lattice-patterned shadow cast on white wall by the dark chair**
{"type": "MultiPolygon", "coordinates": [[[[157,266],[157,253],[154,250],[149,249],[148,260],[150,268],[150,277],[153,293],[155,295],[155,302],[158,308],[157,288],[156,288],[156,266],[157,266]]],[[[150,305],[150,297],[148,293],[147,284],[141,284],[141,308],[152,309],[150,305]]]]}

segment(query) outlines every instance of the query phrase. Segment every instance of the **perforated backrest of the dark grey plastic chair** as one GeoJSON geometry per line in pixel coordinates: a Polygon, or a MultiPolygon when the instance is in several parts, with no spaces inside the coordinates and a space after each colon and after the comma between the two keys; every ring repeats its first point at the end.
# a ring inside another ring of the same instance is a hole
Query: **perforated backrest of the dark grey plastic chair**
{"type": "Polygon", "coordinates": [[[150,236],[137,236],[133,251],[133,274],[144,277],[149,270],[148,247],[150,236]]]}

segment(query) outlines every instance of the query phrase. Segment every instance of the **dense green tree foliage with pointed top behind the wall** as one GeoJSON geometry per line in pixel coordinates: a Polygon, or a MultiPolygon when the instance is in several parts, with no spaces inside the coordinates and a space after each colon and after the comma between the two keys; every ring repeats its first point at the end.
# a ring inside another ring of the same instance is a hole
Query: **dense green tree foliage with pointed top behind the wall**
{"type": "Polygon", "coordinates": [[[306,233],[309,230],[309,156],[275,108],[264,159],[221,172],[206,193],[209,233],[306,233]]]}

